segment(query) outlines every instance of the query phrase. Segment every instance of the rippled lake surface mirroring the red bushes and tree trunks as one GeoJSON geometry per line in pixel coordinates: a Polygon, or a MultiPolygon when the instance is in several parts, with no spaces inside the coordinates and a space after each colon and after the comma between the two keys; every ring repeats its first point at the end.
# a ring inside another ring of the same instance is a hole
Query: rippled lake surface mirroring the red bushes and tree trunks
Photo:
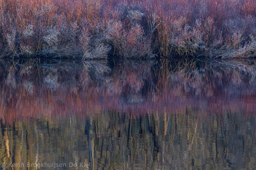
{"type": "Polygon", "coordinates": [[[0,61],[1,166],[255,169],[255,65],[0,61]]]}

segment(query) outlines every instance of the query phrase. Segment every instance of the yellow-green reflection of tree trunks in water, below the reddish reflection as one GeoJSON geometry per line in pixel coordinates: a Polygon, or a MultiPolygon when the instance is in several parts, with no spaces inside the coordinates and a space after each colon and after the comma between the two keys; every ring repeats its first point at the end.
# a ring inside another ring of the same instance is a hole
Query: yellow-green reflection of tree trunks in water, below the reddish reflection
{"type": "MultiPolygon", "coordinates": [[[[255,116],[226,112],[44,118],[1,125],[3,162],[86,162],[92,169],[255,166],[255,116]]],[[[68,169],[69,167],[66,167],[68,169]]]]}

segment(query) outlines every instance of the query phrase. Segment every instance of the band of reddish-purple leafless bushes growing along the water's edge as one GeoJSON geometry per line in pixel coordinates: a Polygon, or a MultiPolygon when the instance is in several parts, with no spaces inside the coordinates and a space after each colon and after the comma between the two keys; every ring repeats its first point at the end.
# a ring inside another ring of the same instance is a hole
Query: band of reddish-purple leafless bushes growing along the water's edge
{"type": "Polygon", "coordinates": [[[0,57],[256,56],[251,0],[0,0],[0,57]]]}

